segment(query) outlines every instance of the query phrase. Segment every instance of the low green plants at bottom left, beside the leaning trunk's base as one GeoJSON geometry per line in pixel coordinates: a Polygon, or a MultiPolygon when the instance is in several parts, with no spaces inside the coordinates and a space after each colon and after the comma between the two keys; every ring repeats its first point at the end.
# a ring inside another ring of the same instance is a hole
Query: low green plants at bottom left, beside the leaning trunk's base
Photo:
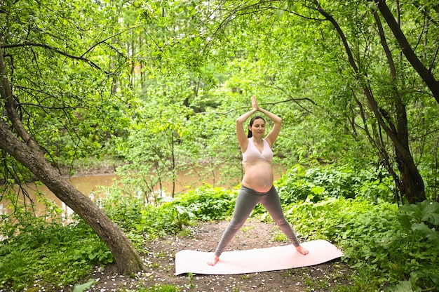
{"type": "Polygon", "coordinates": [[[112,253],[82,221],[35,225],[36,218],[27,219],[28,225],[0,245],[1,287],[56,288],[85,277],[93,265],[112,263],[112,253]]]}

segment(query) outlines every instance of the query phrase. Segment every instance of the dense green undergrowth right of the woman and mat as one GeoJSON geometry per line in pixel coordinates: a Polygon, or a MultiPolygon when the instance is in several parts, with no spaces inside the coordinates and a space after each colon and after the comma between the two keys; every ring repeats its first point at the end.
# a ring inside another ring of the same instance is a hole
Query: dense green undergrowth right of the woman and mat
{"type": "Polygon", "coordinates": [[[396,291],[439,288],[438,203],[398,208],[388,175],[343,167],[297,166],[277,185],[299,237],[335,242],[358,278],[396,291]]]}

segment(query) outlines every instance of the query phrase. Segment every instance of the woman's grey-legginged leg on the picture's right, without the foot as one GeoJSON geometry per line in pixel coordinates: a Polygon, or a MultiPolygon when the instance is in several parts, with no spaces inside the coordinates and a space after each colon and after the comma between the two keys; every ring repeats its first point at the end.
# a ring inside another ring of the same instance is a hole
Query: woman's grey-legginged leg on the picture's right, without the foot
{"type": "Polygon", "coordinates": [[[298,247],[299,241],[297,240],[296,234],[292,231],[290,223],[285,219],[283,215],[281,199],[279,199],[279,194],[276,187],[272,187],[271,190],[265,194],[264,199],[260,202],[269,211],[271,218],[273,218],[279,229],[290,239],[292,245],[298,247]]]}

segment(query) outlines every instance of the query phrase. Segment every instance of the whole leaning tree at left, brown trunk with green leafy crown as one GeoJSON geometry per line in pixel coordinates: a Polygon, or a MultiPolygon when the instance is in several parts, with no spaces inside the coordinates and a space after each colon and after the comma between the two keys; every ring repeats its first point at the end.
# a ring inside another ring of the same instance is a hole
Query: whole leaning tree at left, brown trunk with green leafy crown
{"type": "Polygon", "coordinates": [[[8,2],[0,11],[1,149],[93,228],[120,272],[144,270],[126,235],[55,167],[58,147],[75,157],[115,131],[108,121],[123,103],[112,102],[111,76],[97,65],[114,50],[101,21],[111,9],[80,0],[8,2]]]}

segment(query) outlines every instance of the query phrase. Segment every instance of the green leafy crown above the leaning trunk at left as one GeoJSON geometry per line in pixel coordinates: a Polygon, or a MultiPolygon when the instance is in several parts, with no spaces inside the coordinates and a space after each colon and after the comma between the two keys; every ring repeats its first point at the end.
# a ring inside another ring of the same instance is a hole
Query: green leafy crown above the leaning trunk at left
{"type": "MultiPolygon", "coordinates": [[[[112,21],[118,21],[119,11],[109,3],[83,0],[6,2],[0,15],[0,29],[8,32],[0,36],[8,47],[1,51],[3,69],[13,95],[20,97],[17,107],[25,130],[54,166],[69,168],[71,174],[76,159],[113,154],[110,138],[125,133],[136,105],[124,86],[118,93],[109,90],[119,72],[109,78],[107,66],[116,68],[125,60],[113,55],[120,55],[123,46],[109,48],[102,40],[119,27],[112,21]]],[[[2,157],[8,163],[1,164],[0,180],[18,178],[18,173],[25,178],[20,181],[32,178],[8,154],[2,157]]]]}

